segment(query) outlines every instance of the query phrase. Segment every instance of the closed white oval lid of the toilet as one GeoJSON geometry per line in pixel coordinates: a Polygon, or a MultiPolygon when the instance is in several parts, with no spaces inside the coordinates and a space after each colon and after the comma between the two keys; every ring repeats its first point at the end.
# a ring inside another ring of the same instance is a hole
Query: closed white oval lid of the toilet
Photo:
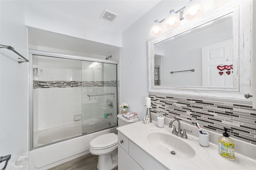
{"type": "Polygon", "coordinates": [[[94,149],[104,149],[114,146],[118,143],[117,135],[114,133],[102,134],[90,142],[90,147],[94,149]]]}

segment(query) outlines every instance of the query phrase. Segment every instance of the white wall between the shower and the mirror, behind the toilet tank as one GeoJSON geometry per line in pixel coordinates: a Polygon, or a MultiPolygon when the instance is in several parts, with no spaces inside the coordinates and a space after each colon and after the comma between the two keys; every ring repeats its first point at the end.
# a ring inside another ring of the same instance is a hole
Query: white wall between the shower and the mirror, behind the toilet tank
{"type": "Polygon", "coordinates": [[[121,99],[129,104],[129,110],[137,112],[140,120],[146,116],[148,97],[148,55],[147,40],[154,20],[164,19],[170,8],[179,10],[187,1],[161,1],[122,33],[121,99]]]}

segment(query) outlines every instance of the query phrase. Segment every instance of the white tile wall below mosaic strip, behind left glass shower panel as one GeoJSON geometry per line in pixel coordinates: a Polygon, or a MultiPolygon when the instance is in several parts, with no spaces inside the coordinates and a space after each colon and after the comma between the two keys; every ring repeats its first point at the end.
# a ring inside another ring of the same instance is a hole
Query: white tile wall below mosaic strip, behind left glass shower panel
{"type": "Polygon", "coordinates": [[[38,88],[38,130],[79,123],[82,87],[38,88]]]}

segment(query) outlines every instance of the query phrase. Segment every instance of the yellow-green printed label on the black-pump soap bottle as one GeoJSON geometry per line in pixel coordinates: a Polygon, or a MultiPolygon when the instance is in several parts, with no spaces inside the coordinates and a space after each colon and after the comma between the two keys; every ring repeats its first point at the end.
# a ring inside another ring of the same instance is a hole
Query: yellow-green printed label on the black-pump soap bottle
{"type": "Polygon", "coordinates": [[[219,140],[219,154],[228,159],[235,158],[234,144],[228,144],[219,140]]]}

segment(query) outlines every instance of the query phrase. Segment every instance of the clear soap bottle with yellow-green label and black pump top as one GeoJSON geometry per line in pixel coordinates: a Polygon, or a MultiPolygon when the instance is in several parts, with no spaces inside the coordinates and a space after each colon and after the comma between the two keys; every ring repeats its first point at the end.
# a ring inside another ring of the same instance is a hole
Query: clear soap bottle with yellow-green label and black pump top
{"type": "Polygon", "coordinates": [[[219,154],[223,156],[224,158],[227,158],[229,160],[235,159],[235,143],[233,140],[231,140],[227,133],[227,128],[224,127],[225,132],[223,133],[223,136],[220,136],[218,138],[219,140],[219,154]]]}

